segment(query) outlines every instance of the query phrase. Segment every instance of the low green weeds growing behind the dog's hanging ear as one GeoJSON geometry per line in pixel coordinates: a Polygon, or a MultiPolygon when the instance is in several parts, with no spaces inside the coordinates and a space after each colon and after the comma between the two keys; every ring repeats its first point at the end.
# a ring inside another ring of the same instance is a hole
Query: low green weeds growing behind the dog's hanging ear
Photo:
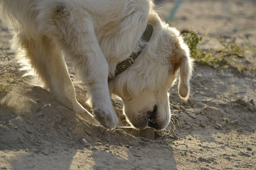
{"type": "MultiPolygon", "coordinates": [[[[236,45],[236,38],[230,41],[220,38],[222,48],[216,51],[209,50],[202,52],[199,50],[200,42],[203,40],[202,36],[197,35],[195,31],[188,31],[187,33],[183,33],[183,37],[191,51],[191,57],[200,65],[209,65],[220,70],[233,67],[240,73],[245,70],[253,70],[247,65],[248,61],[245,59],[245,48],[236,45]]],[[[254,54],[256,53],[253,46],[250,46],[250,49],[254,54]]]]}

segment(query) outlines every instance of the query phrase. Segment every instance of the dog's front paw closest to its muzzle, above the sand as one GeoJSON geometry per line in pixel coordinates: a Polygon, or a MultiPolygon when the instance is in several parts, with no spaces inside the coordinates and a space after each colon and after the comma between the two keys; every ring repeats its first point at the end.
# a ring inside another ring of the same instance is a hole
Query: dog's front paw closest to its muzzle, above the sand
{"type": "Polygon", "coordinates": [[[111,108],[110,110],[106,109],[96,109],[93,111],[94,118],[101,123],[102,126],[109,129],[114,129],[119,119],[114,112],[114,109],[111,108]]]}

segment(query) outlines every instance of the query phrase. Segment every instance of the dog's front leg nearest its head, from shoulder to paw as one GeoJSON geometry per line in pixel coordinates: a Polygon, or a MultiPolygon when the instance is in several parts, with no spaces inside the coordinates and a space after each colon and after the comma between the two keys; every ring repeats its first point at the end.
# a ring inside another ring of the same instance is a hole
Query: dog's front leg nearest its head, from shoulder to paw
{"type": "Polygon", "coordinates": [[[75,5],[38,4],[39,31],[72,59],[76,73],[89,88],[94,118],[106,128],[113,129],[118,117],[110,100],[108,62],[98,45],[91,16],[84,8],[75,5]]]}

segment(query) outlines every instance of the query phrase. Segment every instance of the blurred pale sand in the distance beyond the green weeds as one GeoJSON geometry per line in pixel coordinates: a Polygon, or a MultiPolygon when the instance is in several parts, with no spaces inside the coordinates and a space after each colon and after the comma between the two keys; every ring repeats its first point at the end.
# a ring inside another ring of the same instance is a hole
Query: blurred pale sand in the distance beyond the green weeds
{"type": "MultiPolygon", "coordinates": [[[[180,0],[155,0],[163,20],[168,20],[180,0]]],[[[180,31],[190,30],[204,36],[201,49],[221,48],[220,37],[233,39],[238,44],[256,45],[255,0],[184,0],[180,1],[170,22],[180,31]]]]}

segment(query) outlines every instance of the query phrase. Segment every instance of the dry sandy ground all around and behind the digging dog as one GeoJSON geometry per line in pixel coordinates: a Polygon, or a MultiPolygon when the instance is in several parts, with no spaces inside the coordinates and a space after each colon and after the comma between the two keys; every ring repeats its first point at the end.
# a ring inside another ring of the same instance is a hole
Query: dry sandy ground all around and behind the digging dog
{"type": "MultiPolygon", "coordinates": [[[[163,19],[175,2],[156,1],[163,19]]],[[[204,36],[203,50],[220,48],[221,36],[255,47],[255,14],[253,0],[187,0],[171,24],[204,36]]],[[[176,86],[170,89],[170,127],[155,132],[155,139],[135,138],[86,122],[26,83],[10,39],[1,28],[0,86],[10,87],[0,93],[0,169],[256,169],[255,73],[196,65],[188,102],[176,86]]],[[[246,58],[255,67],[255,54],[246,58]]],[[[86,88],[69,71],[84,105],[86,88]]],[[[121,101],[113,105],[121,116],[121,101]]]]}

